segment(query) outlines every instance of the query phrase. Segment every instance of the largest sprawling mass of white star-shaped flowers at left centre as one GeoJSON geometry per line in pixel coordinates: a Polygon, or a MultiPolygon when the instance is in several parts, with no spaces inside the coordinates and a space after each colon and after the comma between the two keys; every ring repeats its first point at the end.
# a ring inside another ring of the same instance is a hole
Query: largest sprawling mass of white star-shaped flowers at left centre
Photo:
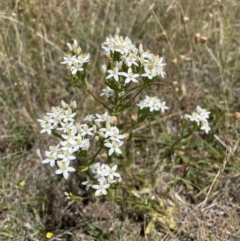
{"type": "Polygon", "coordinates": [[[56,174],[63,174],[68,178],[68,172],[74,172],[75,168],[70,167],[71,161],[76,159],[79,153],[87,152],[90,147],[90,138],[95,137],[96,145],[105,149],[109,156],[113,153],[122,153],[120,146],[123,145],[124,135],[114,124],[116,118],[110,116],[106,111],[103,115],[88,115],[84,118],[84,124],[75,121],[76,102],[70,105],[64,101],[62,107],[52,107],[51,111],[43,119],[38,119],[42,127],[41,133],[55,134],[61,137],[57,146],[50,146],[45,152],[46,159],[43,163],[49,163],[51,167],[55,164],[59,169],[56,174]],[[59,134],[60,132],[61,134],[59,134]]]}

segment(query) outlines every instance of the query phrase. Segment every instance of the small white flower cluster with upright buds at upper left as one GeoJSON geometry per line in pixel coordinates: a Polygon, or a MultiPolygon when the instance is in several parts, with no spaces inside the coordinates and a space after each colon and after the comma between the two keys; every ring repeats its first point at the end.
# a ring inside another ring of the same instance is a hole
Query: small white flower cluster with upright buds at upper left
{"type": "Polygon", "coordinates": [[[76,40],[73,41],[73,45],[67,43],[67,46],[73,55],[63,57],[64,61],[61,64],[66,64],[72,75],[75,75],[78,71],[84,71],[84,64],[89,62],[90,55],[82,53],[76,40]]]}

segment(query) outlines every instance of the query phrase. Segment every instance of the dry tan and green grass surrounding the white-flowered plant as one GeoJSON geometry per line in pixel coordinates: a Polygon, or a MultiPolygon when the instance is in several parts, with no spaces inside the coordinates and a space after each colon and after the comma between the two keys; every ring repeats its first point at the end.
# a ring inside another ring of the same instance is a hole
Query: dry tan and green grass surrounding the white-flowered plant
{"type": "Polygon", "coordinates": [[[10,0],[0,9],[0,240],[46,240],[48,231],[62,241],[240,240],[239,152],[226,161],[214,138],[232,148],[239,139],[239,1],[10,0]],[[166,79],[149,93],[171,111],[136,129],[126,147],[126,192],[155,195],[147,207],[92,199],[81,175],[65,181],[41,164],[51,140],[40,136],[37,118],[62,99],[78,102],[79,118],[100,111],[64,81],[65,43],[75,38],[90,52],[88,79],[99,93],[100,43],[117,28],[167,62],[166,79]],[[211,134],[170,150],[180,115],[198,104],[211,111],[211,134]],[[64,191],[86,199],[67,203],[64,191]]]}

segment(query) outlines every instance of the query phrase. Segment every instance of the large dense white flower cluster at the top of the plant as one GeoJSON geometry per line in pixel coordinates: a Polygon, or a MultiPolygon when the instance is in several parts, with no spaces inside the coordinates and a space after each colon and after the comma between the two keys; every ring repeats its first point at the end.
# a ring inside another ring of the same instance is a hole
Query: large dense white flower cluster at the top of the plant
{"type": "MultiPolygon", "coordinates": [[[[121,36],[107,37],[102,48],[111,58],[108,69],[104,66],[106,83],[109,87],[124,88],[131,82],[138,83],[153,80],[156,76],[165,76],[163,58],[144,51],[142,45],[137,48],[131,40],[121,36]]],[[[106,92],[103,92],[105,94],[106,92]]],[[[111,92],[111,94],[113,94],[111,92]]],[[[105,94],[109,97],[109,94],[105,94]]]]}

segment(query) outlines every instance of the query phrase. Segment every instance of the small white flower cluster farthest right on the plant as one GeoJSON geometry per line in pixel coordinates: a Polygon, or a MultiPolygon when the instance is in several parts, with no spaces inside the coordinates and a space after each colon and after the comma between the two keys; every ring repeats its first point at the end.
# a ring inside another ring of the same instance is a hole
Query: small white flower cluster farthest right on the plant
{"type": "Polygon", "coordinates": [[[201,130],[204,130],[206,134],[211,130],[208,124],[209,114],[211,112],[202,109],[200,106],[197,106],[196,112],[193,112],[192,115],[185,114],[184,118],[189,119],[190,121],[196,122],[198,125],[201,125],[201,130]]]}

